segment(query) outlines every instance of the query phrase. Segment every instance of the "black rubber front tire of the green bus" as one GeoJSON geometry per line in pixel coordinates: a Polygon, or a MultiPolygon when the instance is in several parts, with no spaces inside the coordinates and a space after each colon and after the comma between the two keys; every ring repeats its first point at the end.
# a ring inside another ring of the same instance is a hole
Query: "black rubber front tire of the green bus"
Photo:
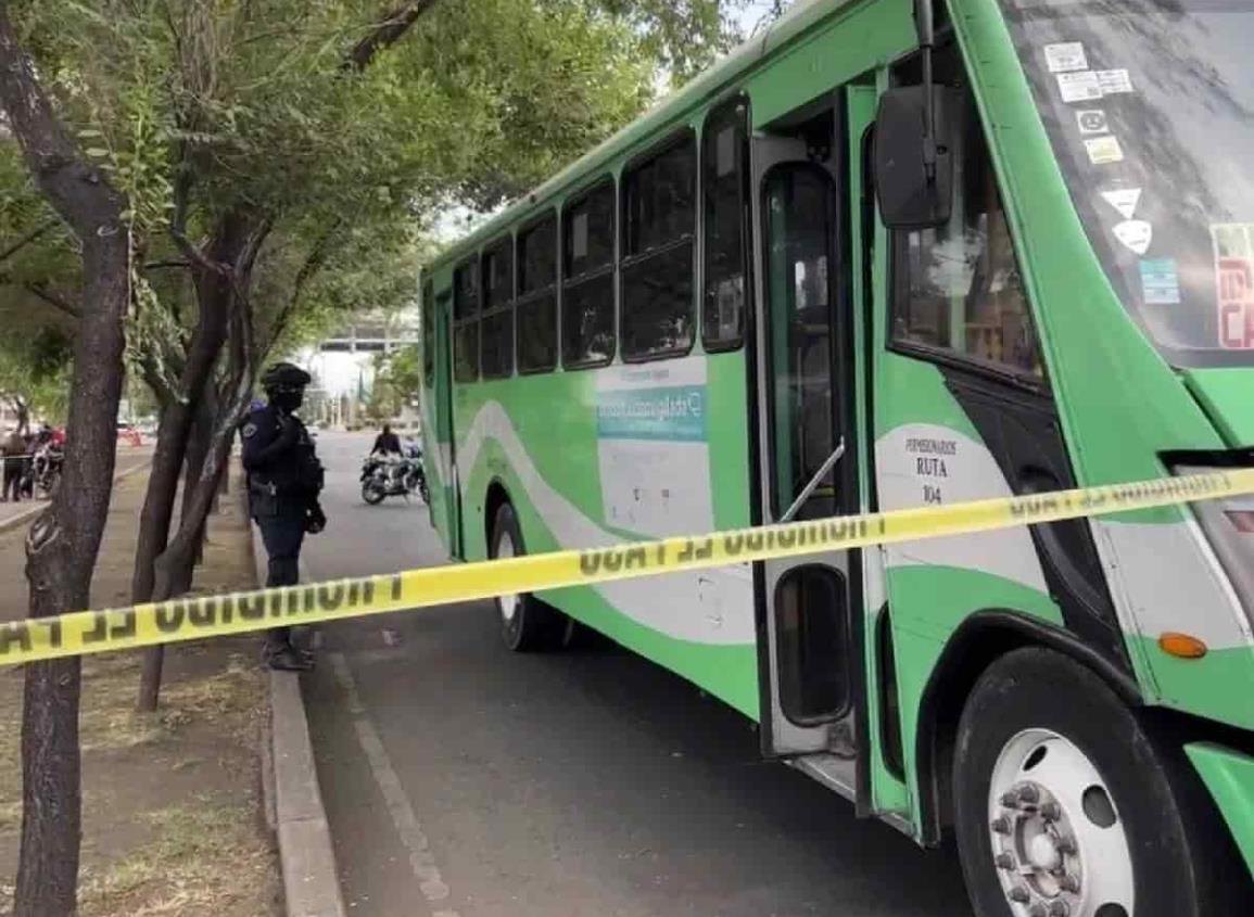
{"type": "MultiPolygon", "coordinates": [[[[1102,909],[1102,902],[1095,901],[1086,906],[1095,917],[1228,917],[1238,913],[1231,909],[1233,896],[1239,893],[1243,869],[1234,862],[1234,846],[1179,742],[1161,737],[1161,728],[1129,708],[1091,670],[1052,650],[1031,648],[1007,654],[984,671],[967,699],[958,725],[952,774],[954,827],[977,917],[1013,917],[1026,912],[1023,907],[1011,907],[999,879],[999,876],[1016,873],[999,872],[994,864],[989,789],[1002,750],[1013,748],[1011,743],[1016,737],[1032,730],[1048,730],[1087,758],[1109,790],[1105,804],[1112,804],[1114,809],[1088,808],[1092,785],[1081,795],[1085,802],[1078,812],[1076,807],[1063,809],[1065,816],[1056,827],[1061,826],[1061,834],[1077,838],[1081,849],[1076,854],[1080,859],[1063,858],[1061,868],[1067,872],[1071,863],[1082,863],[1083,868],[1092,869],[1092,847],[1090,859],[1082,859],[1085,837],[1100,843],[1097,838],[1110,837],[1102,832],[1115,827],[1122,829],[1127,841],[1124,862],[1131,861],[1135,913],[1125,913],[1121,906],[1112,907],[1109,902],[1102,909]],[[1093,812],[1099,814],[1095,817],[1093,812]],[[1077,821],[1068,821],[1071,817],[1077,821]],[[1087,823],[1078,821],[1083,818],[1087,823]],[[1231,868],[1225,868],[1229,863],[1231,868]]],[[[1051,748],[1065,747],[1060,743],[1051,748]]],[[[1021,773],[1031,778],[1031,768],[1040,767],[1048,754],[1040,749],[1030,753],[1021,773]],[[1036,754],[1040,758],[1033,764],[1036,754]]],[[[1004,765],[1001,773],[1007,773],[1004,765]]],[[[1073,785],[1083,783],[1087,780],[1073,785]]],[[[1099,785],[1095,795],[1099,806],[1102,804],[1104,788],[1099,785]]],[[[1006,813],[1011,816],[1008,837],[999,843],[1013,847],[1009,838],[1020,837],[1016,826],[1025,824],[1017,819],[1033,818],[1032,806],[1017,802],[997,812],[1002,813],[997,821],[1006,813]]],[[[1007,834],[1006,824],[1001,829],[1007,834]]],[[[1110,858],[1102,859],[1102,863],[1109,862],[1110,858]]],[[[1083,874],[1082,868],[1076,872],[1083,874]]],[[[1028,888],[1027,882],[1035,881],[1017,876],[1012,883],[1028,888]]],[[[1046,877],[1046,882],[1050,881],[1046,877]]],[[[1037,889],[1038,886],[1031,887],[1033,894],[1037,889]]],[[[1071,913],[1080,917],[1076,909],[1071,913]]]]}

